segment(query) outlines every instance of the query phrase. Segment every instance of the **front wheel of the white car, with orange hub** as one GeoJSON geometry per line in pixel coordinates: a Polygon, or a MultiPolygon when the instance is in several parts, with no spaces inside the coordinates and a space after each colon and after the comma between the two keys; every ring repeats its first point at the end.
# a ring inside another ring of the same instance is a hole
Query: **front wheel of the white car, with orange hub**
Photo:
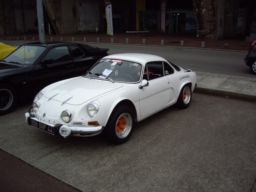
{"type": "Polygon", "coordinates": [[[132,135],[134,111],[127,106],[117,106],[111,113],[104,129],[104,135],[112,143],[122,144],[132,135]]]}

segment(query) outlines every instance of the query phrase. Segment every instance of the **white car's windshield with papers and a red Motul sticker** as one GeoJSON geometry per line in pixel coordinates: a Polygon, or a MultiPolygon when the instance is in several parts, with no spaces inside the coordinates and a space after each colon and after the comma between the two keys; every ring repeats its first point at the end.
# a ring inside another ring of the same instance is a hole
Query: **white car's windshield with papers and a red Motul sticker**
{"type": "Polygon", "coordinates": [[[84,77],[100,78],[109,81],[136,83],[140,81],[142,65],[140,63],[102,59],[84,74],[84,77]],[[89,72],[89,74],[88,74],[89,72]]]}

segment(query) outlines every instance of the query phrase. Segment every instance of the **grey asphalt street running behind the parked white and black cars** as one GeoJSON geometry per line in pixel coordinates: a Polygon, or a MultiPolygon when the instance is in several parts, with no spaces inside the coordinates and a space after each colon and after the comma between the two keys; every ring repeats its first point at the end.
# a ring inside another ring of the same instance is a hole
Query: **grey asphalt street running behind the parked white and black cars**
{"type": "MultiPolygon", "coordinates": [[[[3,41],[3,43],[19,46],[22,41],[3,41]]],[[[26,42],[29,43],[29,42],[26,42]]],[[[219,51],[207,49],[190,49],[182,47],[141,46],[132,44],[98,44],[93,46],[108,48],[108,54],[137,52],[159,55],[192,71],[255,78],[250,68],[245,65],[247,52],[219,51]]]]}

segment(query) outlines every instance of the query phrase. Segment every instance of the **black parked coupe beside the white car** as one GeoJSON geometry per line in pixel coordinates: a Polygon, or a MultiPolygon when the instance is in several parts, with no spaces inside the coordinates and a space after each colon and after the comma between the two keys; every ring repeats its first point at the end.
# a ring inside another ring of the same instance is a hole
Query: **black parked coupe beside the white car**
{"type": "Polygon", "coordinates": [[[0,61],[0,115],[9,113],[17,100],[25,100],[45,86],[76,76],[108,49],[66,42],[23,44],[0,61]]]}

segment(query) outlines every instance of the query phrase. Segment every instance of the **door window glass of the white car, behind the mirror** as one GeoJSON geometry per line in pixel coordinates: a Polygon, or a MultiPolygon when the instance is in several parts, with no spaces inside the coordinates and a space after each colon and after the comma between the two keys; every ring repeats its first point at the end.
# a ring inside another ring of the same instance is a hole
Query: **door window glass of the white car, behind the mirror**
{"type": "Polygon", "coordinates": [[[151,62],[146,65],[143,79],[151,80],[164,76],[163,62],[151,62]]]}

